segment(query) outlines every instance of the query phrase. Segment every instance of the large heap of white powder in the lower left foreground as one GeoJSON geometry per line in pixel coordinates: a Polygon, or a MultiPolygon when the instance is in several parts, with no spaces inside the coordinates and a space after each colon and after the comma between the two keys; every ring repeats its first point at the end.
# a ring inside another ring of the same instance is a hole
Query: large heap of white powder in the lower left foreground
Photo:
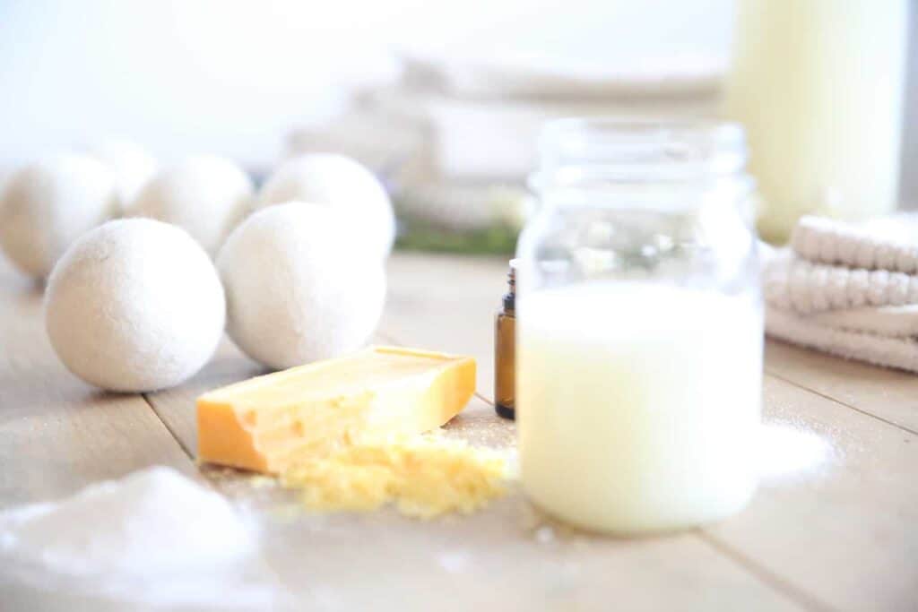
{"type": "Polygon", "coordinates": [[[252,521],[166,467],[0,513],[0,574],[148,604],[261,602],[247,569],[257,550],[252,521]]]}

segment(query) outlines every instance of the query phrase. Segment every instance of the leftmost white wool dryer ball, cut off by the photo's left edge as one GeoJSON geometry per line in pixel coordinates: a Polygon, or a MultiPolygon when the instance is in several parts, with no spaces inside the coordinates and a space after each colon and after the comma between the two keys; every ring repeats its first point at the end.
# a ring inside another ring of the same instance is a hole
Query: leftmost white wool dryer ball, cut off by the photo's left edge
{"type": "Polygon", "coordinates": [[[0,196],[0,245],[17,268],[48,276],[73,240],[112,217],[115,177],[101,161],[64,154],[14,172],[0,196]]]}

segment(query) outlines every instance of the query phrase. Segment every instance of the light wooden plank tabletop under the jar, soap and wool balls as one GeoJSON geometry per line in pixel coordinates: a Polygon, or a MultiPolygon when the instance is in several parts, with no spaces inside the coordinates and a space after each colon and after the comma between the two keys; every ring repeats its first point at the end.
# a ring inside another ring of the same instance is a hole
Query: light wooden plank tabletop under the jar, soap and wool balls
{"type": "MultiPolygon", "coordinates": [[[[474,355],[478,393],[449,430],[495,447],[514,443],[512,424],[491,406],[505,266],[395,254],[378,333],[474,355]]],[[[40,289],[2,262],[0,507],[174,466],[263,512],[265,580],[297,609],[918,609],[918,377],[770,341],[765,367],[767,476],[742,514],[707,529],[598,537],[555,524],[519,493],[432,522],[389,510],[281,519],[274,510],[290,501],[286,492],[195,462],[196,395],[258,366],[224,341],[178,388],[98,392],[57,361],[40,289]]],[[[0,588],[3,610],[103,607],[0,588]]]]}

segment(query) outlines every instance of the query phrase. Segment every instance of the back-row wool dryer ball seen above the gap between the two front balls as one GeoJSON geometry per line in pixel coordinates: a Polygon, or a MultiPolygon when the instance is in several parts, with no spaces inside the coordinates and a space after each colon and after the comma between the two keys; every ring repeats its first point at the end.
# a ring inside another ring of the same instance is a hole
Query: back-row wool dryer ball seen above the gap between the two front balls
{"type": "Polygon", "coordinates": [[[252,206],[252,179],[216,155],[189,158],[144,185],[129,217],[151,217],[185,228],[214,254],[252,206]]]}

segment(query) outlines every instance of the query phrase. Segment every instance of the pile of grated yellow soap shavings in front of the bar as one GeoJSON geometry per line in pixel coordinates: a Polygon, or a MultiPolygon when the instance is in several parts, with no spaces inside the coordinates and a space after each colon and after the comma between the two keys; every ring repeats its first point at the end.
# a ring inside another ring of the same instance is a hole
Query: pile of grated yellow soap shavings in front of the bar
{"type": "Polygon", "coordinates": [[[471,514],[506,493],[506,452],[420,436],[364,440],[328,455],[298,459],[280,475],[310,510],[367,512],[393,504],[405,516],[471,514]]]}

